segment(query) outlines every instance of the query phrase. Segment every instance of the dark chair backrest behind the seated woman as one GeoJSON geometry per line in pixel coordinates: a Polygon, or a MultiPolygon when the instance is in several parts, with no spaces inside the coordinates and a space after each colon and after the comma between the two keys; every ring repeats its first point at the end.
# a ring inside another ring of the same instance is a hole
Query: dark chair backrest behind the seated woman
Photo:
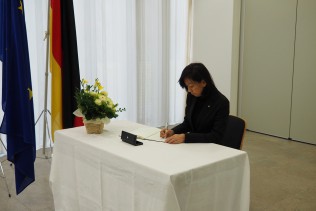
{"type": "Polygon", "coordinates": [[[241,149],[245,130],[246,122],[237,116],[230,115],[224,137],[220,144],[234,149],[241,149]]]}

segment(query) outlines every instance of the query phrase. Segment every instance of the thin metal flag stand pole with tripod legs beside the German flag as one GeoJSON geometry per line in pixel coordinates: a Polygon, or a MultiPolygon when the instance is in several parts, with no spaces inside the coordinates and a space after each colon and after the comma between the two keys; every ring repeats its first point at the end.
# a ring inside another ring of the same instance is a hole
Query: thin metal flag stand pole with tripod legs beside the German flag
{"type": "MultiPolygon", "coordinates": [[[[48,0],[48,8],[47,8],[47,31],[45,32],[44,41],[46,40],[46,70],[45,70],[45,98],[44,98],[44,110],[41,112],[40,116],[35,122],[35,125],[37,124],[38,120],[41,118],[42,115],[44,115],[44,125],[43,125],[43,155],[45,158],[48,158],[46,156],[46,129],[48,131],[48,136],[50,139],[50,132],[48,127],[48,121],[47,121],[47,113],[50,113],[50,111],[47,109],[47,90],[48,90],[48,56],[49,56],[49,25],[50,25],[50,0],[48,0]],[[45,128],[46,127],[46,128],[45,128]]],[[[51,139],[50,139],[51,141],[51,139]]],[[[51,142],[50,142],[51,143],[51,142]]]]}

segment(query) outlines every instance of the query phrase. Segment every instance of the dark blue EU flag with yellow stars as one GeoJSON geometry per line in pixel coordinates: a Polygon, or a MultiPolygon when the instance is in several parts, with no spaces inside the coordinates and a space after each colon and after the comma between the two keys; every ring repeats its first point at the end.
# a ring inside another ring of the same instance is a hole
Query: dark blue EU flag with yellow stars
{"type": "Polygon", "coordinates": [[[34,182],[35,125],[23,0],[0,0],[2,109],[0,132],[14,163],[16,193],[34,182]]]}

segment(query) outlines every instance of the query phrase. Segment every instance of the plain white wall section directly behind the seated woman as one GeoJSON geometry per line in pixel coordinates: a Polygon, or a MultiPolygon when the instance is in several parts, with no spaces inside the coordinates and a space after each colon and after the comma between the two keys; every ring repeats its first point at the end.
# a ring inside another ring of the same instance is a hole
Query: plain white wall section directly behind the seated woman
{"type": "Polygon", "coordinates": [[[240,0],[193,0],[191,62],[202,62],[237,114],[240,0]]]}

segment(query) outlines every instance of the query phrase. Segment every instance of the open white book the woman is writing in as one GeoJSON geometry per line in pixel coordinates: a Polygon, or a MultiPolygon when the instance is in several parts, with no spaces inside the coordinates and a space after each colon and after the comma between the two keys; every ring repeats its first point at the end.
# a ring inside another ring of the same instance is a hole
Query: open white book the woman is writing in
{"type": "Polygon", "coordinates": [[[130,133],[137,135],[138,139],[149,140],[149,141],[159,141],[164,142],[165,139],[160,137],[160,129],[155,127],[142,126],[135,130],[130,131],[130,133]]]}

